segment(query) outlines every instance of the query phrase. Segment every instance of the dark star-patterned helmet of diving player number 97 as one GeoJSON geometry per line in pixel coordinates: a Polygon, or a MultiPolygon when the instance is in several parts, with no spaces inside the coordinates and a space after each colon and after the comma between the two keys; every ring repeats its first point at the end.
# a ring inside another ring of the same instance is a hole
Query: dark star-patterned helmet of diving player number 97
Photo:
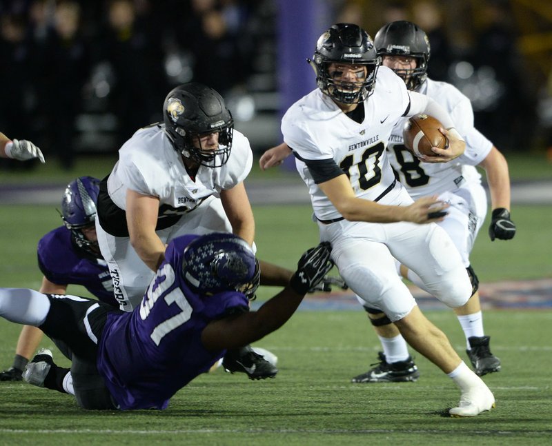
{"type": "Polygon", "coordinates": [[[184,249],[184,281],[199,294],[239,291],[255,298],[261,271],[248,243],[234,234],[199,236],[184,249]]]}

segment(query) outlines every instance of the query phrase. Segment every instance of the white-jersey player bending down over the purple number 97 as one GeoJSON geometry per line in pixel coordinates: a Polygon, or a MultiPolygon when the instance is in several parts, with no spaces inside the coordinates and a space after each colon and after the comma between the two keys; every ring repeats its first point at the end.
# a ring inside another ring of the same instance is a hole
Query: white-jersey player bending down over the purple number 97
{"type": "MultiPolygon", "coordinates": [[[[234,130],[224,99],[206,85],[186,83],[168,93],[163,114],[164,123],[141,128],[124,143],[100,184],[98,243],[127,312],[141,302],[172,239],[233,232],[253,245],[255,235],[243,183],[253,153],[234,130]]],[[[250,346],[229,351],[223,366],[252,379],[278,371],[250,346]]]]}

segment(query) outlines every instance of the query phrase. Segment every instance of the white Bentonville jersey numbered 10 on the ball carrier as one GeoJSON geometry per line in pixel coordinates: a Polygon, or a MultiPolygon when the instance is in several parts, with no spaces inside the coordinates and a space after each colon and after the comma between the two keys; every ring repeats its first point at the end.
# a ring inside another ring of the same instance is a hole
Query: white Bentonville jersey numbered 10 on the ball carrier
{"type": "MultiPolygon", "coordinates": [[[[380,67],[373,94],[364,101],[364,121],[357,123],[319,89],[294,103],[282,119],[284,141],[302,159],[333,159],[351,181],[356,196],[375,200],[395,181],[386,146],[395,123],[409,104],[404,81],[380,67]]],[[[306,164],[296,159],[318,219],[341,215],[320,190],[306,164]]]]}

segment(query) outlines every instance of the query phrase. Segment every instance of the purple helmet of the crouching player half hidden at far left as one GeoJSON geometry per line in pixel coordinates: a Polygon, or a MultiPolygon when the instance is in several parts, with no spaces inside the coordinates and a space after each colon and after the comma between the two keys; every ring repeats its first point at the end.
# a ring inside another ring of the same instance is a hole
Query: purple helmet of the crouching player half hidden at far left
{"type": "Polygon", "coordinates": [[[63,192],[60,212],[75,244],[97,258],[101,257],[98,242],[88,240],[82,230],[95,225],[99,183],[99,179],[92,176],[79,176],[71,181],[63,192]]]}

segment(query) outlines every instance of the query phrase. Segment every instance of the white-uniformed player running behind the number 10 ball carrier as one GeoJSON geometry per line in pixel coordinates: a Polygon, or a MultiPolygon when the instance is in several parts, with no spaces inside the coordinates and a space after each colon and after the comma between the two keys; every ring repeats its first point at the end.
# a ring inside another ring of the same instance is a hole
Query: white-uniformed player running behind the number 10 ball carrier
{"type": "MultiPolygon", "coordinates": [[[[481,176],[475,165],[486,171],[489,183],[493,218],[489,227],[491,240],[511,239],[515,225],[510,220],[510,180],[508,163],[504,156],[473,126],[473,109],[469,99],[453,85],[427,78],[430,44],[424,30],[409,21],[395,21],[383,26],[374,39],[382,65],[391,68],[406,83],[410,91],[433,98],[451,114],[457,130],[466,141],[466,150],[450,163],[420,163],[403,144],[402,128],[406,119],[400,120],[391,134],[387,150],[390,161],[401,183],[413,199],[439,194],[450,207],[448,215],[437,223],[453,239],[462,256],[464,267],[472,282],[473,295],[462,307],[455,308],[458,321],[466,337],[466,352],[475,369],[482,376],[500,370],[500,360],[491,353],[489,336],[483,330],[479,293],[479,281],[471,267],[469,254],[475,237],[484,222],[487,199],[481,184],[481,176]]],[[[420,278],[402,267],[402,275],[413,283],[424,286],[420,278]]],[[[361,302],[362,303],[362,302],[361,302]]],[[[385,314],[365,306],[375,330],[382,341],[381,362],[368,372],[355,376],[353,383],[382,381],[415,381],[419,373],[408,355],[404,338],[385,314]]]]}

